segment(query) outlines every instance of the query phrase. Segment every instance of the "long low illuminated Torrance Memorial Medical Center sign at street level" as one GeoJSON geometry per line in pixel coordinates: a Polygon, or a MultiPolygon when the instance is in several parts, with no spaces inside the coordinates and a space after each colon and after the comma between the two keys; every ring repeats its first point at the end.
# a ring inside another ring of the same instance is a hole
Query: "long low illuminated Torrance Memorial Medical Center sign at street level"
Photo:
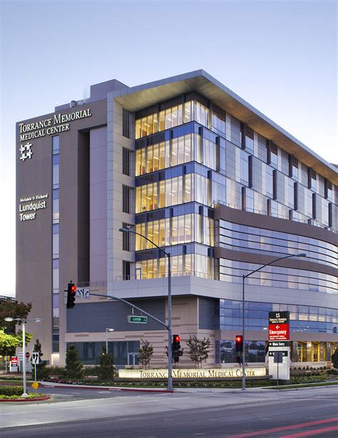
{"type": "MultiPolygon", "coordinates": [[[[267,375],[266,367],[250,367],[245,369],[246,377],[264,377],[267,375]]],[[[176,379],[215,379],[242,377],[242,368],[202,368],[176,369],[172,376],[176,379]]],[[[118,370],[118,377],[123,379],[168,379],[168,370],[118,370]]]]}

